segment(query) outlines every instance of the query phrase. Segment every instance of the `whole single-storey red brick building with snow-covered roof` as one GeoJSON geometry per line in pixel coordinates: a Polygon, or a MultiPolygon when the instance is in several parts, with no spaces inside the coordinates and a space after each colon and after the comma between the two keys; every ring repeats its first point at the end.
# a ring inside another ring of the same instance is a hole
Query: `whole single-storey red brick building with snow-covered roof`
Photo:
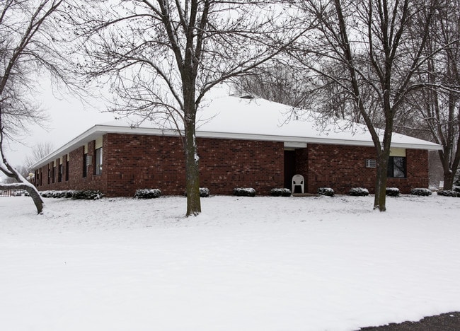
{"type": "MultiPolygon", "coordinates": [[[[269,194],[305,178],[305,192],[331,187],[374,191],[376,161],[369,132],[360,124],[315,124],[315,114],[260,98],[233,96],[205,102],[197,114],[200,186],[212,194],[253,187],[269,194]],[[294,116],[292,116],[294,115],[294,116]],[[287,119],[290,118],[289,121],[287,119]]],[[[428,186],[429,141],[393,134],[389,187],[407,193],[428,186]]],[[[33,165],[38,190],[100,190],[108,197],[137,189],[185,192],[183,145],[177,130],[129,122],[98,124],[33,165]]]]}

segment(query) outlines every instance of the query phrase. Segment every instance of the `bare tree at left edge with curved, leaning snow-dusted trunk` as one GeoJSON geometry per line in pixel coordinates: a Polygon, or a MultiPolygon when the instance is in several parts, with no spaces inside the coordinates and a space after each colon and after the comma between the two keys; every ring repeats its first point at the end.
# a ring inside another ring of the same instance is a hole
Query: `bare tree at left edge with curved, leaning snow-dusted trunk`
{"type": "Polygon", "coordinates": [[[17,181],[2,184],[0,189],[26,190],[38,214],[43,209],[42,198],[38,190],[8,163],[5,144],[7,139],[24,132],[28,122],[42,120],[37,106],[29,98],[30,86],[39,69],[48,69],[59,76],[54,65],[59,52],[50,46],[50,33],[55,30],[50,30],[48,23],[63,2],[4,0],[0,3],[0,170],[17,181]]]}

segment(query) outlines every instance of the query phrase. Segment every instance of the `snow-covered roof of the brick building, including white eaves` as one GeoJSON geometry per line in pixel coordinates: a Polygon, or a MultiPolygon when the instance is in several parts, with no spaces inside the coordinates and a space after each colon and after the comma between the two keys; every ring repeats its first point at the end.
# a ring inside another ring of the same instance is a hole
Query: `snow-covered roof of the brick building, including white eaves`
{"type": "MultiPolygon", "coordinates": [[[[343,120],[324,123],[318,121],[318,118],[314,112],[294,109],[262,98],[221,96],[203,101],[203,107],[197,112],[196,136],[282,141],[287,148],[305,147],[306,144],[374,146],[364,125],[343,120]]],[[[175,129],[159,127],[146,121],[133,126],[136,123],[136,120],[124,119],[96,124],[35,163],[33,168],[45,165],[106,133],[178,136],[175,129]]],[[[426,150],[442,148],[430,141],[403,134],[393,134],[391,146],[426,150]]]]}

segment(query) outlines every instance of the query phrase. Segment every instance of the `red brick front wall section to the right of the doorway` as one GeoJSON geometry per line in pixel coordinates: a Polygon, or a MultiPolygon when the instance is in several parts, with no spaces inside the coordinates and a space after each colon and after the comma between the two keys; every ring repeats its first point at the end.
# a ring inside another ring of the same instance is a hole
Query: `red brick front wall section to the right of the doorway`
{"type": "MultiPolygon", "coordinates": [[[[352,187],[374,193],[376,168],[366,168],[367,158],[375,159],[373,147],[308,144],[297,151],[297,167],[306,178],[308,192],[331,187],[346,194],[352,187]]],[[[388,178],[387,187],[410,193],[413,187],[428,187],[427,151],[406,150],[407,178],[388,178]]]]}

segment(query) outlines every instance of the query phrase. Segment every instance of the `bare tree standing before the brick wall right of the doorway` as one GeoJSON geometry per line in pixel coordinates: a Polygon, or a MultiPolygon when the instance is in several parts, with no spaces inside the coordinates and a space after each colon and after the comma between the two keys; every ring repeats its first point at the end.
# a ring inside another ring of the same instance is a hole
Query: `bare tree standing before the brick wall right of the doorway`
{"type": "Polygon", "coordinates": [[[317,80],[333,83],[352,100],[367,125],[376,152],[374,209],[386,210],[391,135],[406,95],[424,86],[417,80],[438,0],[304,0],[299,8],[320,25],[292,55],[317,80]],[[417,26],[413,26],[417,22],[417,26]],[[414,30],[417,30],[417,35],[414,30]],[[336,65],[338,70],[331,71],[336,65]],[[340,69],[342,68],[342,69],[340,69]],[[344,69],[344,70],[343,70],[344,69]],[[378,127],[383,130],[379,130],[378,127]]]}

